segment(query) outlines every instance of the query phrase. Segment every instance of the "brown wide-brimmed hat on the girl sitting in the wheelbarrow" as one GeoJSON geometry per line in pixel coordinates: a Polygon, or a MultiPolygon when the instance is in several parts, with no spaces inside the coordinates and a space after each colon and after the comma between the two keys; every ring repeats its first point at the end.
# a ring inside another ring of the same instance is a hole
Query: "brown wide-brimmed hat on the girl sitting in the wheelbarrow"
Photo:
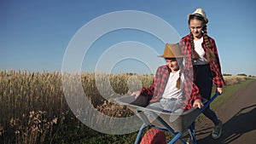
{"type": "Polygon", "coordinates": [[[166,49],[164,55],[158,57],[162,58],[183,58],[178,43],[166,43],[166,49]]]}

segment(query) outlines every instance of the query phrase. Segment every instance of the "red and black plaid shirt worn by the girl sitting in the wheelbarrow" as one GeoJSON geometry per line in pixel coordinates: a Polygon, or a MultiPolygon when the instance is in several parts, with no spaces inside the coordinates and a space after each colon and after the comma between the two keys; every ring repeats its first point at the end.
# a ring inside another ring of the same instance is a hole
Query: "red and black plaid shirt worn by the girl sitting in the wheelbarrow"
{"type": "MultiPolygon", "coordinates": [[[[168,66],[159,66],[157,72],[155,73],[153,84],[149,88],[143,88],[141,90],[142,95],[153,96],[150,103],[160,101],[161,96],[164,94],[166,89],[166,84],[170,76],[170,68],[168,66]]],[[[196,99],[201,99],[198,87],[193,83],[193,79],[186,77],[189,71],[183,71],[184,74],[184,109],[188,110],[193,107],[193,102],[196,99]]],[[[193,74],[192,74],[193,75],[193,74]]]]}

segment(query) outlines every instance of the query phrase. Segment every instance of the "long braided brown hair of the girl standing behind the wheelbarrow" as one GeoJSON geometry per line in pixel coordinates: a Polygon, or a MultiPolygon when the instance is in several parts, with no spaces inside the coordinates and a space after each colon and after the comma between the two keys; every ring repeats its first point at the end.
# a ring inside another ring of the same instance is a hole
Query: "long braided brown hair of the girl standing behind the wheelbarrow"
{"type": "MultiPolygon", "coordinates": [[[[203,17],[199,16],[199,15],[191,15],[189,16],[189,23],[190,20],[201,20],[202,21],[202,35],[204,38],[204,42],[206,44],[207,47],[207,51],[206,51],[206,55],[204,55],[204,57],[206,58],[207,62],[210,63],[213,60],[215,60],[215,54],[212,51],[212,44],[209,41],[209,37],[207,35],[207,22],[203,19],[203,17]]],[[[196,53],[195,51],[195,43],[194,43],[194,37],[193,34],[190,34],[190,43],[192,46],[192,59],[193,60],[198,60],[199,59],[199,55],[196,53]]]]}

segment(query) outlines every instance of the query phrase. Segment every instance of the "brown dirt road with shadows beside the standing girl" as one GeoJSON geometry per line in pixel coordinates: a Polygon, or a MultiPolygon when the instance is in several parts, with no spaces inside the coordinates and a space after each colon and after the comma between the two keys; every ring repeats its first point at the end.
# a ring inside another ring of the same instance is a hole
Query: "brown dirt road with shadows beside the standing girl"
{"type": "Polygon", "coordinates": [[[233,95],[215,112],[223,121],[223,135],[218,140],[213,140],[211,136],[213,124],[204,118],[195,124],[196,139],[199,144],[256,143],[256,81],[233,95]]]}

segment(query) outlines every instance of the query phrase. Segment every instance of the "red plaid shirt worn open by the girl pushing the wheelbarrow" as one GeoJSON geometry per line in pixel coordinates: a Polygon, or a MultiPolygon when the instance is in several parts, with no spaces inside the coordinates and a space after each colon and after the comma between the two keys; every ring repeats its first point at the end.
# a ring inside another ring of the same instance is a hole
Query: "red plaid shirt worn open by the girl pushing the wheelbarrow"
{"type": "MultiPolygon", "coordinates": [[[[190,35],[191,34],[183,37],[181,39],[180,43],[179,43],[181,45],[183,55],[186,55],[184,69],[186,69],[188,71],[193,70],[193,65],[192,65],[192,62],[191,62],[192,45],[191,45],[191,42],[190,42],[190,35]]],[[[210,49],[212,49],[212,51],[214,52],[214,54],[216,56],[216,60],[213,60],[210,63],[213,82],[214,82],[214,84],[216,84],[216,86],[218,88],[222,88],[223,85],[224,85],[224,78],[223,78],[223,75],[221,73],[221,66],[220,66],[220,62],[219,62],[219,58],[218,58],[217,46],[214,42],[214,39],[212,39],[212,37],[209,37],[209,42],[212,45],[212,47],[210,49]]],[[[205,42],[202,43],[202,48],[206,51],[207,47],[206,47],[205,42]]]]}

